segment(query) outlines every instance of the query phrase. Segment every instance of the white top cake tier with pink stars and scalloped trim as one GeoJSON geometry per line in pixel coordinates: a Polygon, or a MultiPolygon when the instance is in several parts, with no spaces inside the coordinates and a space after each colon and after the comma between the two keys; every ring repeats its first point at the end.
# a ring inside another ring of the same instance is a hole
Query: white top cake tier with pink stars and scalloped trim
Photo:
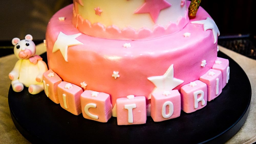
{"type": "Polygon", "coordinates": [[[142,40],[177,32],[188,23],[185,0],[73,0],[72,23],[86,35],[142,40]]]}

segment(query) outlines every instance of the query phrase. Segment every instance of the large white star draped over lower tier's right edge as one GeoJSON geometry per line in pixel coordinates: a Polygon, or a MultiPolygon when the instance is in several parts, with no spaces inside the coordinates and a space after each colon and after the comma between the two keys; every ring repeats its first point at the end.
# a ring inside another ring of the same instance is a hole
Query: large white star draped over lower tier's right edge
{"type": "Polygon", "coordinates": [[[214,22],[214,20],[212,20],[211,18],[207,17],[206,20],[198,20],[198,21],[192,21],[192,24],[201,24],[204,25],[204,30],[206,31],[207,29],[211,29],[212,30],[212,34],[214,37],[214,43],[217,42],[217,36],[220,35],[220,31],[216,25],[216,23],[214,22]]]}

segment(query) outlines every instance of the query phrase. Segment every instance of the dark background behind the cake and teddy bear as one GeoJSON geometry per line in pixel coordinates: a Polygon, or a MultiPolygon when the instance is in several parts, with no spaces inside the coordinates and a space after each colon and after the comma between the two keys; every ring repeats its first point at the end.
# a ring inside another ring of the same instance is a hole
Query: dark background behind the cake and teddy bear
{"type": "MultiPolygon", "coordinates": [[[[45,31],[51,16],[72,0],[0,0],[0,56],[12,53],[11,40],[23,39],[31,34],[36,43],[45,39],[45,31]],[[4,50],[3,50],[4,49],[4,50]],[[7,52],[7,53],[5,53],[7,52]]],[[[256,57],[255,0],[202,0],[203,7],[215,20],[220,36],[218,44],[256,57]]]]}

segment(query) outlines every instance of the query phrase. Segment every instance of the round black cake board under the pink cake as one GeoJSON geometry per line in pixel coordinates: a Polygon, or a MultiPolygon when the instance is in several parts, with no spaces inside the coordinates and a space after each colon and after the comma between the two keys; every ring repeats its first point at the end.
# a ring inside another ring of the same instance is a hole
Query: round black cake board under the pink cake
{"type": "MultiPolygon", "coordinates": [[[[52,102],[44,92],[31,95],[28,88],[9,89],[8,102],[13,122],[32,143],[223,143],[244,124],[250,107],[251,85],[246,73],[231,58],[230,80],[222,93],[193,113],[146,124],[119,126],[112,117],[100,123],[76,116],[52,102]]],[[[46,53],[42,58],[47,60],[46,53]]]]}

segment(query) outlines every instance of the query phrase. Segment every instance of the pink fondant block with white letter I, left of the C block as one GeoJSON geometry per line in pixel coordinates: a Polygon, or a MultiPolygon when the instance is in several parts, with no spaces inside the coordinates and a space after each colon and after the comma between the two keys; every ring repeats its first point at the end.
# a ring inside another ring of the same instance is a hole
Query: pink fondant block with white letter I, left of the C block
{"type": "Polygon", "coordinates": [[[81,87],[68,83],[61,82],[58,85],[58,97],[60,106],[74,115],[82,113],[80,95],[83,90],[81,87]]]}

